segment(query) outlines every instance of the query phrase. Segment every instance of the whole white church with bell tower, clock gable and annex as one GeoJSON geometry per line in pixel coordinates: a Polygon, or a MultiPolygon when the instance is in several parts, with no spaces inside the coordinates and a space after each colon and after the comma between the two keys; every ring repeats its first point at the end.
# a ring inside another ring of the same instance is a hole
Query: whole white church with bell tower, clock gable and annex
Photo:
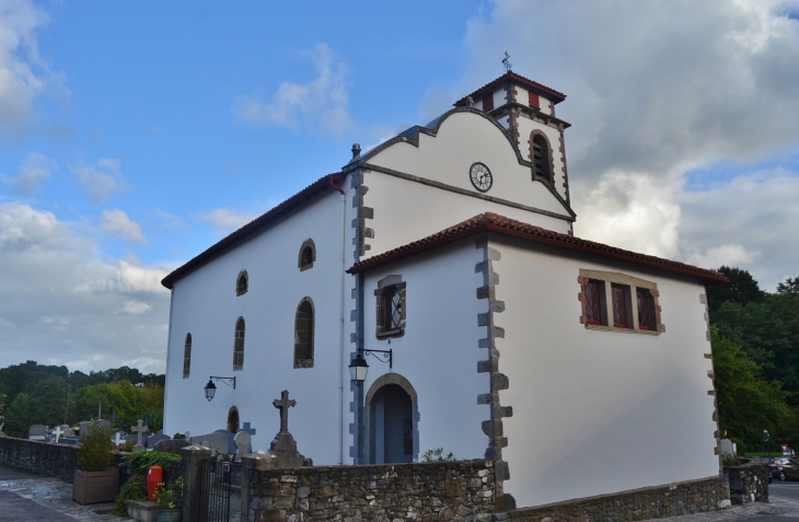
{"type": "Polygon", "coordinates": [[[508,71],[164,278],[164,432],[267,450],[288,391],[315,465],[442,448],[519,507],[717,476],[726,279],[575,235],[565,100],[508,71]]]}

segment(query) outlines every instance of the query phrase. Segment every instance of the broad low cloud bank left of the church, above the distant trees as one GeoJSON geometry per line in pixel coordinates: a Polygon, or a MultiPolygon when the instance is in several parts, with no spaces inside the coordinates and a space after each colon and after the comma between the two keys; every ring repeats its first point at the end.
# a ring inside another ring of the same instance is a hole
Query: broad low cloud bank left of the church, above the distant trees
{"type": "Polygon", "coordinates": [[[160,281],[174,266],[104,259],[93,235],[28,205],[0,204],[0,367],[136,361],[163,371],[170,294],[160,281]]]}

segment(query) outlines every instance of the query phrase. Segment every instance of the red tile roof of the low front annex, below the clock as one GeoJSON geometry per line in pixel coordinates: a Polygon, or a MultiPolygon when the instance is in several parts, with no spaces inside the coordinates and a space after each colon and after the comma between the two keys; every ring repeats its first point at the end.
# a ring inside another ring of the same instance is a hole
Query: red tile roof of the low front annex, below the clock
{"type": "Polygon", "coordinates": [[[374,266],[382,265],[394,259],[399,259],[402,257],[416,254],[418,252],[433,248],[444,243],[460,240],[461,237],[466,237],[486,231],[497,232],[505,235],[512,235],[516,237],[522,237],[524,240],[535,241],[539,243],[546,243],[572,251],[586,252],[588,254],[595,254],[603,257],[612,257],[614,259],[635,263],[637,265],[646,265],[663,270],[685,274],[688,276],[698,277],[699,279],[705,280],[705,282],[730,282],[723,276],[723,274],[715,270],[697,268],[695,266],[686,265],[684,263],[663,259],[662,257],[638,254],[636,252],[616,248],[614,246],[604,245],[602,243],[581,240],[571,235],[560,234],[558,232],[542,229],[541,227],[522,223],[521,221],[516,221],[513,219],[506,218],[505,216],[499,216],[494,212],[486,212],[475,216],[472,219],[467,219],[466,221],[458,223],[454,227],[450,227],[449,229],[427,236],[424,240],[415,241],[398,248],[394,248],[389,252],[384,252],[383,254],[369,257],[360,263],[356,263],[349,270],[347,270],[347,274],[357,274],[359,271],[363,271],[368,268],[372,268],[374,266]]]}

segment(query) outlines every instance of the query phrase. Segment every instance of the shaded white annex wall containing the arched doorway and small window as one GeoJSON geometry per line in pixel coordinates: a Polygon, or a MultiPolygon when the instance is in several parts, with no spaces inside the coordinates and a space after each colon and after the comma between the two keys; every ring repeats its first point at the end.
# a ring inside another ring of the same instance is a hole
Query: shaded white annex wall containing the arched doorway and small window
{"type": "MultiPolygon", "coordinates": [[[[483,276],[475,265],[483,259],[474,239],[442,246],[436,252],[383,265],[364,277],[364,348],[393,349],[395,373],[407,379],[418,394],[419,451],[443,448],[459,459],[482,459],[488,445],[480,422],[489,407],[477,404],[488,393],[488,373],[477,373],[477,361],[487,358],[478,348],[486,335],[477,314],[488,310],[476,289],[483,276]],[[399,275],[406,282],[406,327],[403,337],[375,337],[374,290],[378,281],[399,275]]],[[[363,390],[389,371],[372,357],[363,390]]]]}

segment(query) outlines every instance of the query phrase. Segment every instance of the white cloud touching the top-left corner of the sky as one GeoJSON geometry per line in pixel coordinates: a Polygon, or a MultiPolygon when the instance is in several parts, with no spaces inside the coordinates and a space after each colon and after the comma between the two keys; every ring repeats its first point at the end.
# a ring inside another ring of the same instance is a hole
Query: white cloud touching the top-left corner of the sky
{"type": "Polygon", "coordinates": [[[34,98],[61,81],[38,53],[36,31],[48,21],[33,1],[0,2],[0,140],[23,135],[34,98]]]}

